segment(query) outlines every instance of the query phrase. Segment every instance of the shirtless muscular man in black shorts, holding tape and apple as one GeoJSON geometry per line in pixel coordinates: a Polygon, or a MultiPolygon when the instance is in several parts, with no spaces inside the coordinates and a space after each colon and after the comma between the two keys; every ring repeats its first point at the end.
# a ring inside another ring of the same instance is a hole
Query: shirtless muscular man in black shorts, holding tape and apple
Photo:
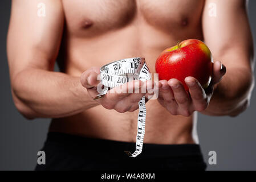
{"type": "Polygon", "coordinates": [[[28,119],[53,118],[42,149],[46,165],[36,169],[205,169],[194,111],[245,110],[252,54],[243,0],[13,0],[7,36],[15,106],[28,119]],[[37,15],[40,2],[46,16],[37,15]],[[142,94],[94,101],[99,68],[141,56],[155,73],[159,53],[185,39],[203,40],[212,51],[212,87],[187,77],[188,95],[178,80],[160,81],[159,98],[147,102],[144,150],[129,158],[123,151],[135,150],[142,94]]]}

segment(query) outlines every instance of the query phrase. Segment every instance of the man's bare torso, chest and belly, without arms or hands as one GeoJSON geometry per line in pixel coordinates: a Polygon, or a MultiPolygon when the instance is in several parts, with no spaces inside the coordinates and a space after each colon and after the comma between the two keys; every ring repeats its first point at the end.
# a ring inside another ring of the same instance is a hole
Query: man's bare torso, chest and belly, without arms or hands
{"type": "MultiPolygon", "coordinates": [[[[62,72],[80,76],[114,60],[145,57],[155,72],[159,53],[178,40],[201,39],[204,1],[63,0],[65,27],[60,48],[62,72]]],[[[157,100],[147,102],[146,143],[193,143],[191,117],[174,116],[157,100]]],[[[117,113],[102,106],[54,119],[50,131],[134,142],[137,112],[117,113]]]]}

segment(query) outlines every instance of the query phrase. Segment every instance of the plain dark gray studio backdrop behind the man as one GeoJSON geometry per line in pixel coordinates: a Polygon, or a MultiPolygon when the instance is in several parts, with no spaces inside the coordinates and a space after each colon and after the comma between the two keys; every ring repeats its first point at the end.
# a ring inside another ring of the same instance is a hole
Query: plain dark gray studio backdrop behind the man
{"type": "MultiPolygon", "coordinates": [[[[50,121],[27,121],[13,104],[6,58],[10,3],[11,1],[0,1],[0,170],[32,170],[36,164],[36,154],[46,138],[50,121]]],[[[255,10],[256,1],[250,1],[249,19],[254,37],[255,10]]],[[[255,39],[254,44],[256,45],[255,39]]],[[[217,165],[208,165],[208,170],[256,170],[255,107],[254,90],[249,109],[236,118],[198,114],[198,135],[205,161],[208,162],[209,151],[217,152],[217,165]]]]}

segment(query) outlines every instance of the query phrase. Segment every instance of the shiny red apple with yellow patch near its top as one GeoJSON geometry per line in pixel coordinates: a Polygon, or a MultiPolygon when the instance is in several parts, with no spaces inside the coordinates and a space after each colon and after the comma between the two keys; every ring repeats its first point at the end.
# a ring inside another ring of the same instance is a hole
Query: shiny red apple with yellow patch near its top
{"type": "Polygon", "coordinates": [[[196,78],[203,88],[207,88],[213,72],[212,53],[200,40],[184,40],[160,54],[156,60],[156,72],[159,80],[180,80],[187,91],[184,79],[188,76],[196,78]]]}

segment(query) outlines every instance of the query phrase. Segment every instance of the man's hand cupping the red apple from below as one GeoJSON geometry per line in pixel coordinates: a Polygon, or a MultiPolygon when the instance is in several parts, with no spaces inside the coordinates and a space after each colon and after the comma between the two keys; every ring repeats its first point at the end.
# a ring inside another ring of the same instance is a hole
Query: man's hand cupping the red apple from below
{"type": "Polygon", "coordinates": [[[169,81],[159,81],[159,103],[173,115],[189,117],[194,111],[203,111],[209,105],[214,86],[221,81],[226,73],[226,67],[220,61],[213,64],[213,76],[207,89],[202,88],[194,77],[186,77],[189,92],[175,78],[169,81]]]}

